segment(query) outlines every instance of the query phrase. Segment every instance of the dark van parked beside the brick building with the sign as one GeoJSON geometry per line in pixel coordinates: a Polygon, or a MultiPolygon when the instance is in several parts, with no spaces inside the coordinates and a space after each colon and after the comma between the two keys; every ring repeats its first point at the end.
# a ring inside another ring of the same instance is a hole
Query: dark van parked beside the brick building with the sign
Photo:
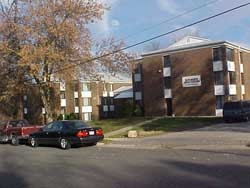
{"type": "Polygon", "coordinates": [[[223,119],[230,121],[249,121],[250,101],[229,101],[224,103],[223,119]]]}

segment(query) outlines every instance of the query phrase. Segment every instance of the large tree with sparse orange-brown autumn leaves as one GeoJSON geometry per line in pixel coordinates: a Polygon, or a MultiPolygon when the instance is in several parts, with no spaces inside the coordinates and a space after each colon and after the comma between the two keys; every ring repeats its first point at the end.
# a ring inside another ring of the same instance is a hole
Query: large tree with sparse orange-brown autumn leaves
{"type": "MultiPolygon", "coordinates": [[[[93,70],[96,70],[97,63],[101,63],[102,67],[106,67],[105,70],[112,73],[128,71],[126,62],[129,56],[125,52],[110,53],[102,58],[103,61],[92,55],[93,44],[87,25],[101,19],[108,9],[99,1],[12,0],[8,11],[3,7],[0,19],[0,53],[5,54],[6,58],[1,58],[1,63],[6,68],[14,67],[15,70],[10,72],[18,74],[11,78],[18,75],[15,79],[20,82],[18,88],[24,88],[21,83],[35,84],[38,87],[47,120],[52,120],[55,113],[53,78],[66,81],[79,74],[91,75],[96,73],[93,70]],[[9,11],[10,9],[13,11],[9,11]],[[13,27],[13,30],[9,30],[7,26],[13,27]],[[12,64],[15,66],[11,66],[12,64]]],[[[115,44],[114,40],[99,44],[102,48],[97,49],[97,55],[117,51],[123,45],[115,44]],[[104,48],[106,45],[108,47],[104,48]]]]}

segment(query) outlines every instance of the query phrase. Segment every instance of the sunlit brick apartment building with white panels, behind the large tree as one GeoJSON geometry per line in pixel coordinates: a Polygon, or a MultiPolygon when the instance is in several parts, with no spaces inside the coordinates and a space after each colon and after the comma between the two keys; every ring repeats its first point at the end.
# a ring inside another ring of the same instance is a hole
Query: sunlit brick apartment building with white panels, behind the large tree
{"type": "MultiPolygon", "coordinates": [[[[124,87],[131,86],[129,78],[110,78],[99,81],[70,81],[55,82],[54,88],[58,93],[55,100],[55,109],[58,116],[74,114],[78,119],[89,121],[102,118],[115,117],[117,93],[114,91],[124,87]]],[[[39,94],[33,88],[32,92],[23,97],[23,117],[31,122],[38,121],[45,123],[45,110],[42,103],[38,102],[39,94]],[[36,94],[34,94],[36,93],[36,94]]]]}

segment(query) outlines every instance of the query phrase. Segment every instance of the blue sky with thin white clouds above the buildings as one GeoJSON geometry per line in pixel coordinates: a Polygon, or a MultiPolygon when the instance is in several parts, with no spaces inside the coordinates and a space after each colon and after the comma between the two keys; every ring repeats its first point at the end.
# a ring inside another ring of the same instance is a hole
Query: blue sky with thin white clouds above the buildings
{"type": "MultiPolygon", "coordinates": [[[[90,26],[94,40],[115,37],[127,46],[213,16],[249,0],[101,0],[110,7],[90,26]],[[196,9],[196,10],[194,10],[196,9]],[[191,11],[193,10],[193,11],[191,11]],[[189,13],[185,13],[189,12],[189,13]],[[185,13],[185,14],[184,14],[185,13]],[[184,15],[183,15],[184,14],[184,15]],[[180,16],[182,15],[182,16],[180,16]]],[[[186,34],[250,48],[250,5],[153,41],[166,48],[186,34]]],[[[129,49],[143,53],[148,42],[129,49]]]]}

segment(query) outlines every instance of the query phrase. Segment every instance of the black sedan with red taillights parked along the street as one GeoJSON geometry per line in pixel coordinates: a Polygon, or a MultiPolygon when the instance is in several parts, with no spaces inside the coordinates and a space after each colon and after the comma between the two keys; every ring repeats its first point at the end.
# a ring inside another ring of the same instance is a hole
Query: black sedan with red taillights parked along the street
{"type": "Polygon", "coordinates": [[[53,121],[29,135],[32,147],[57,145],[69,149],[72,145],[96,145],[104,138],[102,128],[93,128],[80,120],[53,121]]]}

